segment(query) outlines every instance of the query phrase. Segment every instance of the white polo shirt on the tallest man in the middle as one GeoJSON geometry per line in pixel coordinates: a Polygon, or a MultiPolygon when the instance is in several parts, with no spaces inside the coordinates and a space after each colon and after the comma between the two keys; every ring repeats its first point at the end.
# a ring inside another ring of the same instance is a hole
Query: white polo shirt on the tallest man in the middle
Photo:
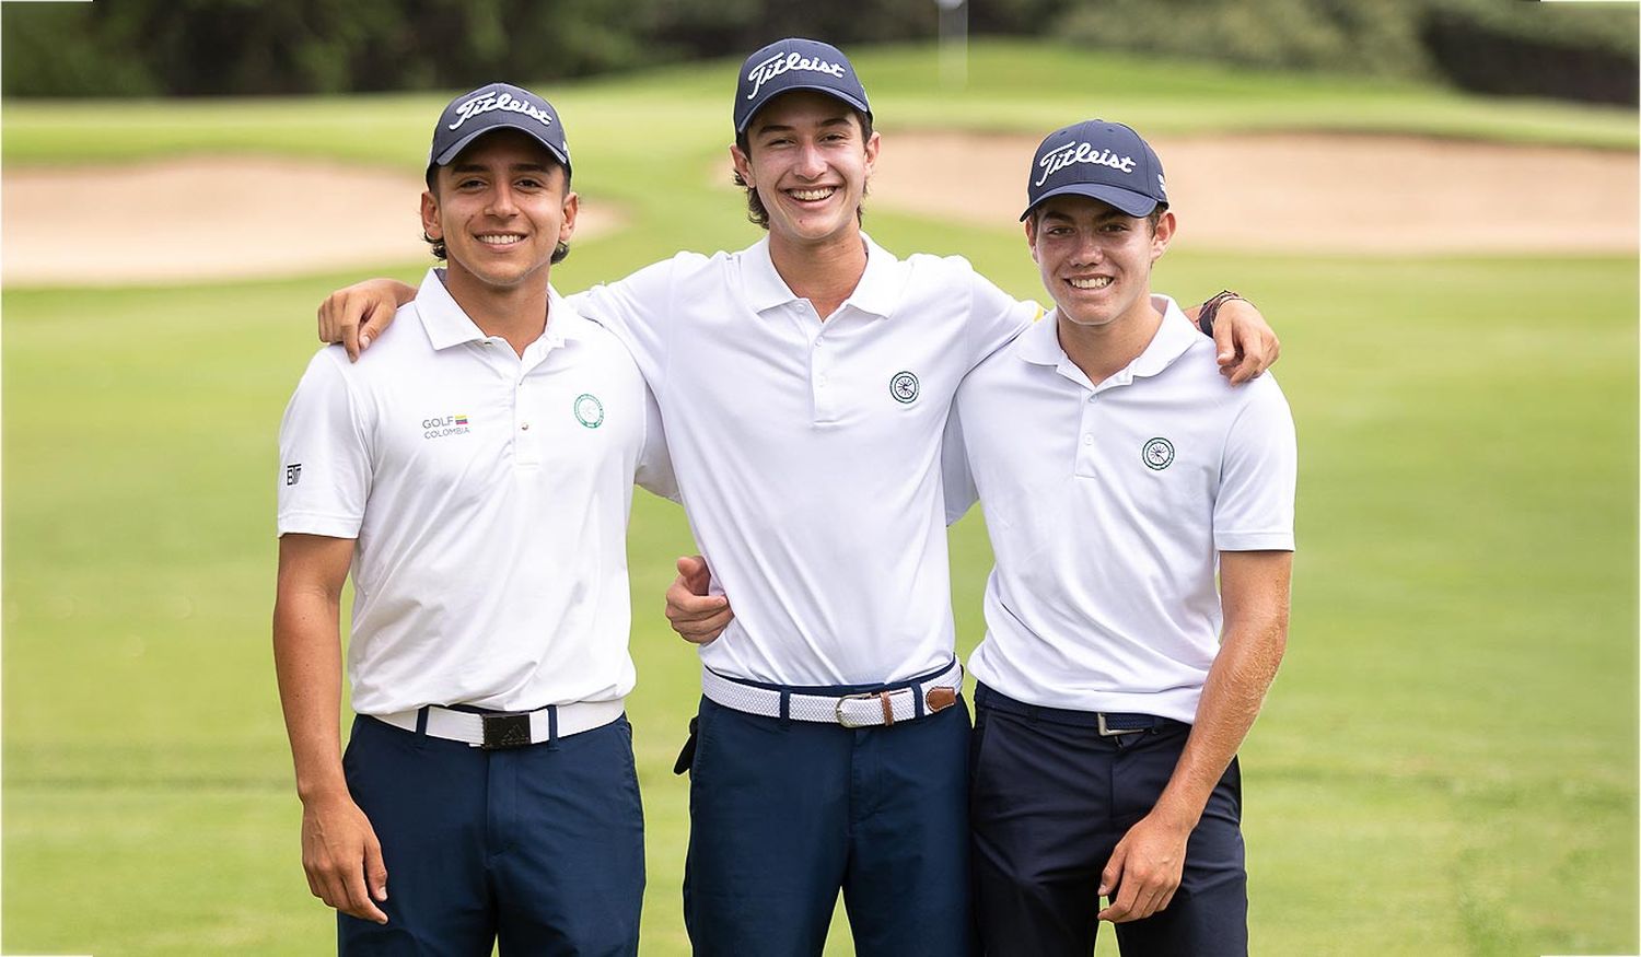
{"type": "Polygon", "coordinates": [[[689,524],[735,607],[701,658],[732,678],[865,685],[952,658],[942,430],[963,374],[1040,310],[965,259],[865,243],[824,323],[766,238],[576,300],[629,341],[666,414],[689,524]]]}

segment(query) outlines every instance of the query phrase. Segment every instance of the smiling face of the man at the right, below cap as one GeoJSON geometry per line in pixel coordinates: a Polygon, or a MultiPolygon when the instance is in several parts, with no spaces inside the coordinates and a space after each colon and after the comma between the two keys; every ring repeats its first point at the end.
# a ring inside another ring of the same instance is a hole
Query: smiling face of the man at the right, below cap
{"type": "Polygon", "coordinates": [[[1172,238],[1172,212],[1131,217],[1085,195],[1050,197],[1026,218],[1044,287],[1060,317],[1085,328],[1154,312],[1150,269],[1172,238]]]}

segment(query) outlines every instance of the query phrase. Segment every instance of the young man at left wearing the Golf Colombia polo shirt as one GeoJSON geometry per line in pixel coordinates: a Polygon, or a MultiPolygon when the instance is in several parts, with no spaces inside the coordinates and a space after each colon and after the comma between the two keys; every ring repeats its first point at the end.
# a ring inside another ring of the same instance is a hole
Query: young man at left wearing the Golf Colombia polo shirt
{"type": "Polygon", "coordinates": [[[635,955],[625,537],[635,479],[673,491],[660,417],[548,284],[578,210],[553,107],[458,97],[427,182],[448,268],[374,361],[313,356],[281,427],[274,658],[309,886],[343,954],[635,955]]]}

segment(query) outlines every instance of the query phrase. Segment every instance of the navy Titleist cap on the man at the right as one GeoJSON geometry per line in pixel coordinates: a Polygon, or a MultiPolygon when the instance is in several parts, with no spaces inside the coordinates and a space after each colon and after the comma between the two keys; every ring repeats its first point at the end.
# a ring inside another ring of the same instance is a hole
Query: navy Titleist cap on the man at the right
{"type": "Polygon", "coordinates": [[[1049,133],[1032,158],[1021,220],[1042,200],[1067,194],[1108,202],[1131,217],[1168,205],[1157,153],[1131,126],[1104,120],[1049,133]]]}

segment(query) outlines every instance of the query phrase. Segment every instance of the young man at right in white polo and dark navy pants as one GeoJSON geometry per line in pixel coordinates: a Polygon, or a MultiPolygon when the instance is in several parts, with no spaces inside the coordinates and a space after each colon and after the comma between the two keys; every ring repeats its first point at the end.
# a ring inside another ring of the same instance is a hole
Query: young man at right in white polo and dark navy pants
{"type": "Polygon", "coordinates": [[[996,552],[970,658],[981,937],[1086,957],[1106,919],[1126,957],[1246,954],[1236,750],[1287,643],[1293,420],[1152,295],[1173,213],[1137,133],[1052,133],[1027,195],[1055,310],[968,374],[945,453],[950,517],[978,491],[996,552]]]}

